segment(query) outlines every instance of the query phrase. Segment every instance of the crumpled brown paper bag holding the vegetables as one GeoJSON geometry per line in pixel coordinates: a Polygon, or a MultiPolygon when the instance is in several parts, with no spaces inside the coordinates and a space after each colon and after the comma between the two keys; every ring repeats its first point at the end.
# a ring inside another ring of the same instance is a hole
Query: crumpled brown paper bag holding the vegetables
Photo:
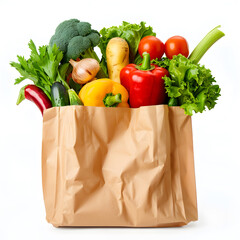
{"type": "Polygon", "coordinates": [[[182,226],[197,220],[191,118],[179,107],[44,112],[42,181],[54,226],[182,226]]]}

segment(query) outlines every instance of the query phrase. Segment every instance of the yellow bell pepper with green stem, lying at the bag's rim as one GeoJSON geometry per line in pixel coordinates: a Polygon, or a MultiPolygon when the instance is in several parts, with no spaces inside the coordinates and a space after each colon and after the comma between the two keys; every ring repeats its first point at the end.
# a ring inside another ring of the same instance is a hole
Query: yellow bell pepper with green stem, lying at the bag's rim
{"type": "Polygon", "coordinates": [[[79,92],[79,97],[84,106],[129,107],[126,88],[108,78],[85,84],[79,92]]]}

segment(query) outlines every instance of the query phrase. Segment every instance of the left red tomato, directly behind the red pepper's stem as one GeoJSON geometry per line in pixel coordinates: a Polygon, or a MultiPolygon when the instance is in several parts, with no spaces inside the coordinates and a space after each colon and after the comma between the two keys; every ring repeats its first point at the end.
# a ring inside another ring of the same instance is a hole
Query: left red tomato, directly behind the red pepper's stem
{"type": "Polygon", "coordinates": [[[144,52],[147,52],[150,54],[151,60],[155,58],[161,59],[164,54],[164,43],[154,36],[146,36],[141,39],[138,52],[141,57],[144,52]]]}

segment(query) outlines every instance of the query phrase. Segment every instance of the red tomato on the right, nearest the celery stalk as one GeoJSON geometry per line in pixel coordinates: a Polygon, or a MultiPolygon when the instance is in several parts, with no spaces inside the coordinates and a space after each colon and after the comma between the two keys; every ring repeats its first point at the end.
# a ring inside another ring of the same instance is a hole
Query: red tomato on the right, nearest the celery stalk
{"type": "Polygon", "coordinates": [[[182,54],[188,57],[188,43],[184,37],[174,36],[169,38],[165,43],[165,54],[169,59],[172,59],[174,55],[182,54]]]}

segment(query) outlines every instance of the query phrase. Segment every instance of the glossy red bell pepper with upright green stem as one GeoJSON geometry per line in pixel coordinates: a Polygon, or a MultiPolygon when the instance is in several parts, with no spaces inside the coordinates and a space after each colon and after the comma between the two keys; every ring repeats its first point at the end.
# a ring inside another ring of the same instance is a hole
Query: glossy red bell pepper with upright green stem
{"type": "Polygon", "coordinates": [[[143,53],[142,65],[129,64],[120,72],[121,84],[129,92],[129,103],[132,108],[164,104],[167,94],[164,76],[165,68],[150,64],[150,55],[143,53]]]}

